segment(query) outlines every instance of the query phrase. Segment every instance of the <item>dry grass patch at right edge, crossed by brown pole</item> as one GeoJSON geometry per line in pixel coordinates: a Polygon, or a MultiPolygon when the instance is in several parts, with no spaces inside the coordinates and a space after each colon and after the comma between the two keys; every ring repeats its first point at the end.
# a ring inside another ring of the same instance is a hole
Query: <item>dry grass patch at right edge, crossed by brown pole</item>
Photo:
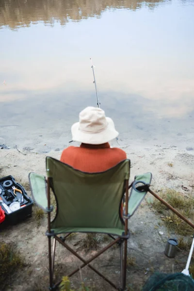
{"type": "MultiPolygon", "coordinates": [[[[194,197],[184,196],[182,193],[172,189],[162,191],[160,196],[182,215],[194,222],[194,197]]],[[[170,231],[174,231],[183,236],[193,234],[193,228],[169,210],[158,199],[154,198],[153,201],[149,202],[149,205],[158,213],[162,214],[162,220],[170,231]]]]}

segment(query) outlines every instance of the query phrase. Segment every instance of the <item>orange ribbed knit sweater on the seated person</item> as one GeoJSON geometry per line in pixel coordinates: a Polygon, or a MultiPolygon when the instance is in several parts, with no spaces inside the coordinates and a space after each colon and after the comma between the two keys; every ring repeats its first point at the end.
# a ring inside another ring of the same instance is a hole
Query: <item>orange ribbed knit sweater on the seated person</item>
{"type": "Polygon", "coordinates": [[[120,148],[111,148],[109,143],[102,145],[81,144],[65,148],[61,155],[64,162],[82,172],[103,172],[127,158],[120,148]]]}

